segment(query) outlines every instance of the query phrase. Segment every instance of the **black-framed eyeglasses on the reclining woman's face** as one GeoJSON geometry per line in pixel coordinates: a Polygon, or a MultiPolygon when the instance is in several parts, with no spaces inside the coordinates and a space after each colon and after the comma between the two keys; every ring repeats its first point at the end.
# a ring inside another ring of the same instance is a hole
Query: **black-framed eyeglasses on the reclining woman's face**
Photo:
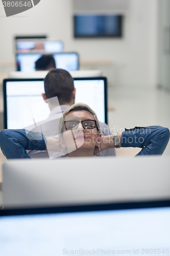
{"type": "Polygon", "coordinates": [[[66,130],[77,129],[79,123],[82,124],[84,129],[94,129],[95,127],[98,129],[96,121],[90,120],[90,119],[83,120],[83,121],[69,120],[69,121],[64,121],[64,123],[65,123],[66,130]]]}

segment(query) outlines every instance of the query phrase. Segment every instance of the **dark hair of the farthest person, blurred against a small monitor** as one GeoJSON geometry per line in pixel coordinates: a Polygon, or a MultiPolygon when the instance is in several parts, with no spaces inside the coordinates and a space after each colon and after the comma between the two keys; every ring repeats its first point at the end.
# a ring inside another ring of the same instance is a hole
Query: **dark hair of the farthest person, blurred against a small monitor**
{"type": "Polygon", "coordinates": [[[56,62],[52,55],[42,55],[42,57],[35,62],[36,70],[50,70],[55,68],[56,62]]]}

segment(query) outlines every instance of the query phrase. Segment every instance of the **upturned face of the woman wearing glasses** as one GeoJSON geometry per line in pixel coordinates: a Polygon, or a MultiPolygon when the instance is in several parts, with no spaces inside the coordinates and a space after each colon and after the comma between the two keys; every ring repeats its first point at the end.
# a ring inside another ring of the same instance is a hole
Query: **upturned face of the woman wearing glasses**
{"type": "MultiPolygon", "coordinates": [[[[69,121],[83,121],[83,120],[94,120],[94,117],[88,111],[72,111],[68,113],[64,121],[68,121],[66,125],[69,128],[69,121]]],[[[93,129],[85,129],[82,126],[82,123],[79,123],[76,126],[76,129],[66,130],[64,124],[64,130],[62,134],[62,147],[67,148],[67,152],[73,152],[78,148],[89,150],[93,153],[94,147],[98,146],[100,140],[100,135],[98,134],[98,130],[96,127],[93,129]]]]}

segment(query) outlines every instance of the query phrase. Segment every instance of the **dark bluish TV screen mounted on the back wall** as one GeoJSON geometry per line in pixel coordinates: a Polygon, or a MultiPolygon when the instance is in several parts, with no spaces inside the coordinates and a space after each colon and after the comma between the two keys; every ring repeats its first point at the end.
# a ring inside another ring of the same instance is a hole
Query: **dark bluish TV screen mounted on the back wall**
{"type": "Polygon", "coordinates": [[[122,37],[122,15],[75,15],[75,37],[122,37]]]}

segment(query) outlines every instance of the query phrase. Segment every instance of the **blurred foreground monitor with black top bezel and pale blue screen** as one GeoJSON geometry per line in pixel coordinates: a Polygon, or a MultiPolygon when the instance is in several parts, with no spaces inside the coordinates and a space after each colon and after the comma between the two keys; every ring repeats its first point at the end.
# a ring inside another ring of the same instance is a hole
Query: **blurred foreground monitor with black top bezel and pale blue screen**
{"type": "Polygon", "coordinates": [[[2,255],[169,255],[170,201],[0,211],[2,255]]]}

